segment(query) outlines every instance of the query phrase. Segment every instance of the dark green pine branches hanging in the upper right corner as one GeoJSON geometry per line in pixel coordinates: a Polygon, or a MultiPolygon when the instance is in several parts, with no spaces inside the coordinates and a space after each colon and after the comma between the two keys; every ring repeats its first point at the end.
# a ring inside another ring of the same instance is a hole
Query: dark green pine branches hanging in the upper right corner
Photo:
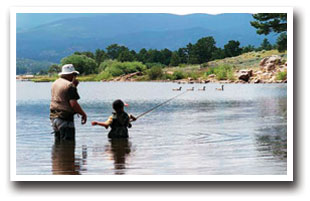
{"type": "Polygon", "coordinates": [[[251,21],[251,25],[257,29],[258,34],[268,35],[270,32],[281,33],[287,29],[286,13],[258,13],[253,14],[256,21],[251,21]]]}

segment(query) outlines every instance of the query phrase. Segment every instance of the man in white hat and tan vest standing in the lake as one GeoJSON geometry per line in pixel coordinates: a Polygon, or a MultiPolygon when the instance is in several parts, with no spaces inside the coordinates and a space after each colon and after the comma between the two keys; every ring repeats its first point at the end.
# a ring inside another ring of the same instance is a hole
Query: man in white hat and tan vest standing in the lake
{"type": "Polygon", "coordinates": [[[60,78],[52,84],[50,119],[57,140],[75,139],[74,114],[82,115],[82,124],[87,121],[86,113],[77,102],[80,99],[76,88],[78,74],[72,64],[66,64],[59,73],[60,78]]]}

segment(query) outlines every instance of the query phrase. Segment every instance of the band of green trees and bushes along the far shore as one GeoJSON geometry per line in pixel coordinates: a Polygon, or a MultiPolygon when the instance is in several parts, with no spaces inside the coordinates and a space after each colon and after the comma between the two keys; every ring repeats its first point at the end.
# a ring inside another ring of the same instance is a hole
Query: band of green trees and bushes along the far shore
{"type": "MultiPolygon", "coordinates": [[[[216,59],[223,59],[226,57],[234,57],[240,54],[260,51],[260,50],[271,50],[279,47],[279,44],[272,45],[268,39],[264,39],[261,46],[255,48],[253,45],[240,47],[240,42],[230,40],[224,48],[216,47],[216,42],[213,37],[203,37],[199,39],[195,44],[189,43],[186,47],[179,48],[176,51],[171,51],[167,48],[162,50],[157,49],[141,49],[139,52],[130,50],[128,47],[112,44],[105,50],[97,49],[94,53],[90,51],[75,52],[74,54],[65,57],[61,60],[61,66],[67,63],[72,63],[76,69],[84,75],[101,73],[110,68],[110,75],[121,75],[134,70],[124,70],[125,67],[121,67],[120,63],[113,63],[114,69],[108,66],[109,60],[118,62],[135,62],[136,66],[131,65],[131,69],[140,69],[140,64],[143,64],[146,69],[151,67],[160,66],[179,66],[180,64],[202,64],[216,59]],[[140,63],[138,65],[138,63],[140,63]],[[137,66],[138,65],[138,66],[137,66]],[[117,71],[118,73],[115,73],[117,71]]],[[[111,64],[111,63],[110,63],[111,64]]],[[[127,68],[127,67],[126,67],[127,68]]],[[[59,72],[60,66],[52,65],[48,69],[48,73],[53,74],[59,72]]]]}

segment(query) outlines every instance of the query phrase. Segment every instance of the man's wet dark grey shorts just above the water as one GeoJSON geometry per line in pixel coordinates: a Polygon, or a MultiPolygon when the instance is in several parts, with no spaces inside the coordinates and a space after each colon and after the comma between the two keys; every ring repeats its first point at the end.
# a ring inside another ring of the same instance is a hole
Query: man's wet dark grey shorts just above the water
{"type": "Polygon", "coordinates": [[[57,140],[75,140],[75,128],[73,121],[63,119],[51,119],[52,128],[57,140]]]}

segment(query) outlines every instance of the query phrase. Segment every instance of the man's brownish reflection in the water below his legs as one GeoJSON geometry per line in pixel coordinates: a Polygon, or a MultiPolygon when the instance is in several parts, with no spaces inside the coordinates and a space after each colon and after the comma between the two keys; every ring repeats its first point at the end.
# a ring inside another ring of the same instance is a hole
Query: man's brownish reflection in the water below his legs
{"type": "Polygon", "coordinates": [[[52,151],[52,172],[55,175],[79,175],[80,162],[75,158],[75,140],[55,139],[52,151]]]}

